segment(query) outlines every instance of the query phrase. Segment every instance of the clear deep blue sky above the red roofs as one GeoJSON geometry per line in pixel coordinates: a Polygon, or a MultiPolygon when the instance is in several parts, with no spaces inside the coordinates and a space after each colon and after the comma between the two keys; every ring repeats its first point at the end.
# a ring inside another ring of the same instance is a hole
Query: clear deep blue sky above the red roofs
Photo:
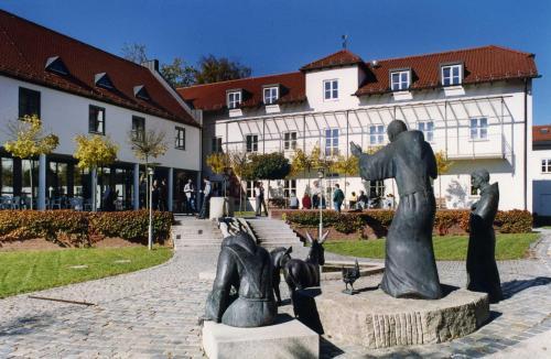
{"type": "Polygon", "coordinates": [[[534,53],[533,121],[551,123],[548,0],[0,0],[0,9],[121,55],[195,64],[214,54],[253,76],[298,70],[348,48],[365,61],[496,44],[534,53]]]}

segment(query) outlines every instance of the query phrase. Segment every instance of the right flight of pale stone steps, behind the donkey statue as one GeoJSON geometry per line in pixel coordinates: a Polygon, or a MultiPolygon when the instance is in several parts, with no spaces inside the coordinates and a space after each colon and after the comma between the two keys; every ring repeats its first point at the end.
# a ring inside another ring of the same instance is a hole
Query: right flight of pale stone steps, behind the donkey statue
{"type": "Polygon", "coordinates": [[[293,247],[293,258],[305,258],[309,250],[303,246],[299,236],[280,219],[257,217],[248,218],[247,222],[255,232],[260,246],[267,250],[277,247],[293,247]]]}

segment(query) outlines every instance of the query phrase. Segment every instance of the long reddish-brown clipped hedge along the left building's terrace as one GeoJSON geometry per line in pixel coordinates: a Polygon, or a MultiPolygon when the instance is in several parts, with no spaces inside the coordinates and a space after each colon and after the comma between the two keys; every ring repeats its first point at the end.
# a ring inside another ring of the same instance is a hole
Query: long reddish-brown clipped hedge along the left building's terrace
{"type": "MultiPolygon", "coordinates": [[[[173,220],[172,213],[153,213],[155,240],[169,238],[173,220]]],[[[148,226],[147,210],[0,210],[0,246],[6,241],[32,238],[44,238],[64,247],[89,247],[106,237],[144,241],[148,226]]]]}

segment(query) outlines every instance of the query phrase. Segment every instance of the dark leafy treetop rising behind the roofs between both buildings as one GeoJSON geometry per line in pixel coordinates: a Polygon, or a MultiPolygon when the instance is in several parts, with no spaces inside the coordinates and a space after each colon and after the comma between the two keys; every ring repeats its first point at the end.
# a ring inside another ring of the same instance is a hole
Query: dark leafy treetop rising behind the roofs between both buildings
{"type": "Polygon", "coordinates": [[[197,63],[195,73],[196,84],[212,84],[230,79],[249,77],[252,70],[250,67],[227,57],[216,57],[214,55],[202,56],[197,63]]]}

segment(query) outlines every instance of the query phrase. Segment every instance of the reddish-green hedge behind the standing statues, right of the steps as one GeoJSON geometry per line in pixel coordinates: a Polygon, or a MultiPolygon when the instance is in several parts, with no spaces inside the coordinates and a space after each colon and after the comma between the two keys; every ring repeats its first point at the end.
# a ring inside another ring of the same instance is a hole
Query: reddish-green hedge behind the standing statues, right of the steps
{"type": "MultiPolygon", "coordinates": [[[[434,231],[440,236],[449,233],[452,227],[458,227],[468,232],[469,210],[437,210],[434,218],[434,231]]],[[[392,221],[393,210],[374,209],[368,211],[336,213],[323,211],[323,224],[333,227],[342,233],[353,233],[369,227],[377,237],[385,237],[392,221]]],[[[282,218],[300,227],[316,227],[320,224],[320,213],[316,210],[285,210],[282,218]]],[[[532,230],[532,215],[528,210],[512,209],[498,211],[494,227],[501,233],[526,233],[532,230]]]]}

